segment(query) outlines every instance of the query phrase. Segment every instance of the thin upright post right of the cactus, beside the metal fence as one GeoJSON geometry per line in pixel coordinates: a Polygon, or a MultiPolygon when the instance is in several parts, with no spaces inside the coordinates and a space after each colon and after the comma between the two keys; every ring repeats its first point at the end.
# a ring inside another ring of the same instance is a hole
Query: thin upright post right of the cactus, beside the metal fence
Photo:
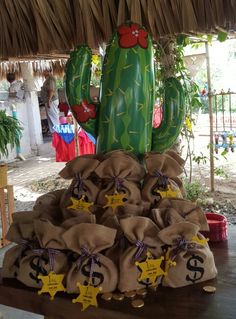
{"type": "Polygon", "coordinates": [[[210,122],[210,190],[214,192],[214,136],[213,136],[213,107],[212,107],[212,90],[211,90],[211,71],[208,42],[205,42],[206,62],[207,62],[207,84],[208,84],[208,103],[209,103],[209,122],[210,122]]]}

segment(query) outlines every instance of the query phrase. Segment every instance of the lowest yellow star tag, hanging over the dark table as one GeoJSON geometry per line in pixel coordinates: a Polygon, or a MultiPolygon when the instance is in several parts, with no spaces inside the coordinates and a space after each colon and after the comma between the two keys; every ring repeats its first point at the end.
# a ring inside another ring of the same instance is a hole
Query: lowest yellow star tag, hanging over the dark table
{"type": "Polygon", "coordinates": [[[94,287],[92,285],[84,286],[79,282],[77,283],[80,294],[76,299],[73,299],[72,302],[79,302],[82,304],[82,311],[87,309],[89,306],[98,306],[97,295],[102,291],[102,287],[94,287]]]}

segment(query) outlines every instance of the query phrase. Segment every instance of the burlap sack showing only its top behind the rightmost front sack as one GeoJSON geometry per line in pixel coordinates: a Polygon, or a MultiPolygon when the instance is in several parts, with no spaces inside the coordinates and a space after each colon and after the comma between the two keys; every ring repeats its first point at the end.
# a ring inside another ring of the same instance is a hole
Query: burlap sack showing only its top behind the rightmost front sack
{"type": "Polygon", "coordinates": [[[197,204],[189,200],[178,198],[165,198],[159,202],[157,208],[160,211],[162,211],[162,216],[165,215],[165,212],[167,212],[168,209],[172,208],[175,211],[177,211],[177,213],[180,216],[182,216],[186,221],[198,225],[200,227],[200,231],[209,231],[209,225],[207,223],[206,215],[204,214],[202,209],[197,206],[197,204]]]}

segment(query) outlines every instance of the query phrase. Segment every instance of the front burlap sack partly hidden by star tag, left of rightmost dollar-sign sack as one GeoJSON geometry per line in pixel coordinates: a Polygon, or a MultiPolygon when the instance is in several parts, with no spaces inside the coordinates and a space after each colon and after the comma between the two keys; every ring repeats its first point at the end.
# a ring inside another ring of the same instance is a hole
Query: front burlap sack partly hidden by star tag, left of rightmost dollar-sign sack
{"type": "Polygon", "coordinates": [[[120,279],[118,288],[121,292],[144,288],[147,282],[139,282],[140,271],[135,262],[146,259],[149,251],[153,257],[162,255],[158,229],[151,219],[129,217],[120,220],[121,229],[129,241],[129,247],[120,255],[120,279]]]}

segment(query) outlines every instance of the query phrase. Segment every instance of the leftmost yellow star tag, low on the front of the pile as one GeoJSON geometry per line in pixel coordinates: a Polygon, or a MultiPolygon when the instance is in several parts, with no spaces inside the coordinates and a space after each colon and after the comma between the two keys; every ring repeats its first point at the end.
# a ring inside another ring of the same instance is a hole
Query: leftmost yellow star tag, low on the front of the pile
{"type": "Polygon", "coordinates": [[[62,284],[64,277],[65,275],[57,275],[52,271],[50,271],[47,276],[38,276],[38,279],[41,279],[43,282],[43,287],[38,291],[38,294],[41,295],[42,293],[48,292],[51,296],[50,299],[53,300],[57,292],[66,291],[62,284]]]}

